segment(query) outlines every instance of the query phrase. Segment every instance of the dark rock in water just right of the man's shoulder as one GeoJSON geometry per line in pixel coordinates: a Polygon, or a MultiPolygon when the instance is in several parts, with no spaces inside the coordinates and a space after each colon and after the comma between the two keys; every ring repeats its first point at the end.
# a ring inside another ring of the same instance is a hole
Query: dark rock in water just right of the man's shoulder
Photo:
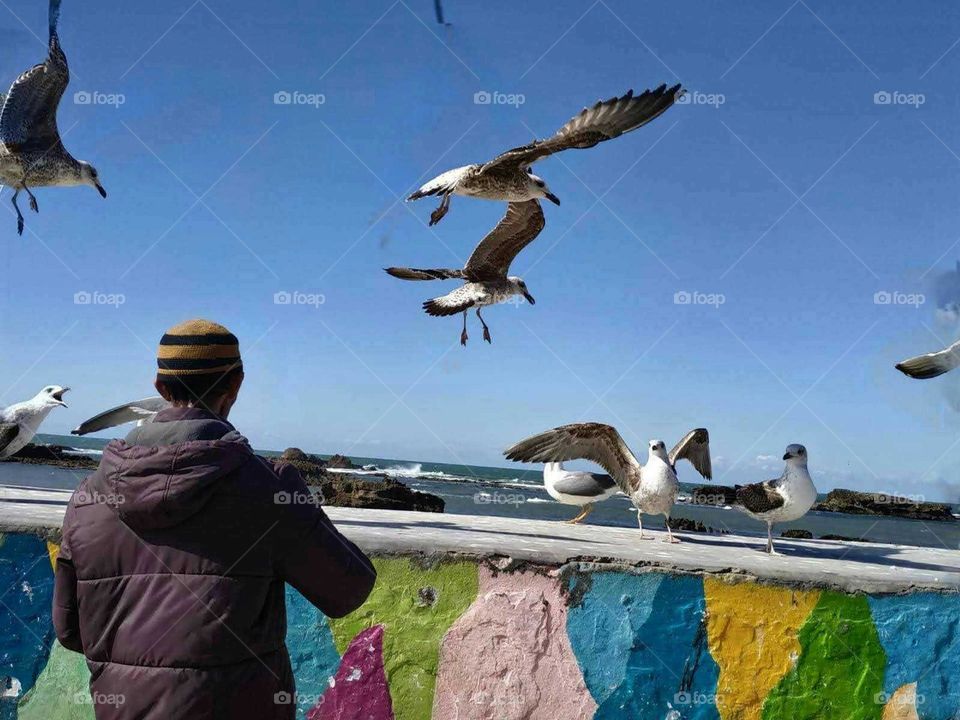
{"type": "MultiPolygon", "coordinates": [[[[443,512],[442,498],[411,490],[403,483],[386,475],[328,472],[329,461],[325,463],[316,455],[307,455],[298,448],[287,448],[281,457],[300,471],[307,485],[322,496],[324,505],[443,512]]],[[[337,457],[350,462],[349,458],[344,458],[342,455],[334,455],[334,458],[337,457]]]]}

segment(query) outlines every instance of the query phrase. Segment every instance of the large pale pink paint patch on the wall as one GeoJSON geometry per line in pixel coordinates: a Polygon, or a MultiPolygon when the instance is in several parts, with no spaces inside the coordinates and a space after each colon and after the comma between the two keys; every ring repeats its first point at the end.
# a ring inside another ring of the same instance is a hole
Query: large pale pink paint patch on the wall
{"type": "Polygon", "coordinates": [[[480,568],[480,592],[447,631],[435,718],[592,718],[597,705],[567,637],[559,581],[480,568]]]}

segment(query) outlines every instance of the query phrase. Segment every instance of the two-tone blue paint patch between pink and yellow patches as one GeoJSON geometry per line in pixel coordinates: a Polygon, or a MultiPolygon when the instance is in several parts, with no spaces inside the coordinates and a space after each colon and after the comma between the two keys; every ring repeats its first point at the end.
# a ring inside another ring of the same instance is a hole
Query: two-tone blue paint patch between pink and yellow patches
{"type": "Polygon", "coordinates": [[[567,633],[596,720],[718,720],[719,668],[707,648],[703,581],[664,573],[593,572],[567,633]]]}

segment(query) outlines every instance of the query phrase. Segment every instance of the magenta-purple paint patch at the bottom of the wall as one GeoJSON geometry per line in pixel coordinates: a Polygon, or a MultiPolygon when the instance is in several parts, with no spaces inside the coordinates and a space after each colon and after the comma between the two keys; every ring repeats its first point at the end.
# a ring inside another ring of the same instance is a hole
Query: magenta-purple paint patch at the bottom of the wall
{"type": "Polygon", "coordinates": [[[350,641],[333,684],[307,720],[393,720],[383,671],[383,625],[367,628],[350,641]]]}

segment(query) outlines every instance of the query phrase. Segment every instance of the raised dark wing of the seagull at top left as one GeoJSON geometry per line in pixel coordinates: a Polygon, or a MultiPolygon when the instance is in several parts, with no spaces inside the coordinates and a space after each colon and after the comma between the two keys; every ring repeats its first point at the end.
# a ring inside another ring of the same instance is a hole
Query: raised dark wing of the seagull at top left
{"type": "Polygon", "coordinates": [[[60,0],[50,2],[47,59],[13,81],[0,110],[0,142],[8,148],[32,146],[43,151],[60,142],[57,106],[70,82],[67,56],[57,36],[60,0]]]}

